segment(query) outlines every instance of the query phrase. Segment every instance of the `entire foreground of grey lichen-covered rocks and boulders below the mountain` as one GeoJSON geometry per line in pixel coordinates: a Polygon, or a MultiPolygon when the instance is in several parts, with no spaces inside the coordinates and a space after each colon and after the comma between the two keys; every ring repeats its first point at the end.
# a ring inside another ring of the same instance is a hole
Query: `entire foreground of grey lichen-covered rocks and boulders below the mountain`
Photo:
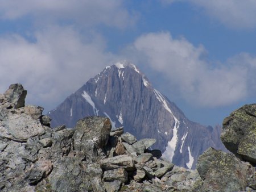
{"type": "Polygon", "coordinates": [[[3,192],[256,191],[256,105],[224,120],[221,139],[234,154],[209,148],[191,170],[150,150],[155,139],[112,130],[109,118],[90,116],[73,129],[52,129],[43,108],[24,105],[25,97],[20,84],[0,94],[3,192]]]}

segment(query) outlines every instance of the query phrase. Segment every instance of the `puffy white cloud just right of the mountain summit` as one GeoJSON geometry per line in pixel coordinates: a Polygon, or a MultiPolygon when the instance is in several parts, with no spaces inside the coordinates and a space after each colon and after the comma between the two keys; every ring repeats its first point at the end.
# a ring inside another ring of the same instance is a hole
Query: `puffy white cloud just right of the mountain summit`
{"type": "Polygon", "coordinates": [[[163,74],[171,95],[200,106],[224,106],[244,99],[251,91],[249,75],[256,72],[250,67],[255,65],[253,57],[244,65],[231,59],[225,65],[212,65],[203,59],[206,51],[202,45],[195,47],[184,38],[173,39],[168,32],[140,36],[127,51],[163,74]]]}

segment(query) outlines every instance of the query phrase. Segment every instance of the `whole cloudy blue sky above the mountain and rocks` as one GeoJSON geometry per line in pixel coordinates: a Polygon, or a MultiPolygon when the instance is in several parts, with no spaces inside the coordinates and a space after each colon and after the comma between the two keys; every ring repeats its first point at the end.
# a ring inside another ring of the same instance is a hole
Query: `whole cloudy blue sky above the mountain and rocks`
{"type": "Polygon", "coordinates": [[[55,108],[118,60],[204,125],[256,100],[256,1],[0,0],[0,92],[55,108]]]}

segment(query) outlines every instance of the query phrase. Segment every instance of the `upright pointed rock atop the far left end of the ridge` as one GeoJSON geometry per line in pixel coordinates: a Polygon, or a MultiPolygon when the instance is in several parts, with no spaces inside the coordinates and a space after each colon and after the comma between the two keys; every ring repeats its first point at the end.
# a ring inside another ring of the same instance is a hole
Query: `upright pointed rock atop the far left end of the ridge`
{"type": "Polygon", "coordinates": [[[6,102],[12,103],[14,108],[24,107],[27,90],[21,84],[12,84],[5,92],[6,102]]]}

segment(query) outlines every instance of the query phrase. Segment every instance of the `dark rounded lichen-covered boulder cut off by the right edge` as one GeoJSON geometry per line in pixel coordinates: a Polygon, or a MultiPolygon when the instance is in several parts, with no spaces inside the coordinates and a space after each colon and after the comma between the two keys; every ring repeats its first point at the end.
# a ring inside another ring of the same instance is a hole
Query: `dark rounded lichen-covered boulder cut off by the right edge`
{"type": "Polygon", "coordinates": [[[221,140],[238,157],[256,164],[256,104],[233,111],[223,121],[221,140]]]}

